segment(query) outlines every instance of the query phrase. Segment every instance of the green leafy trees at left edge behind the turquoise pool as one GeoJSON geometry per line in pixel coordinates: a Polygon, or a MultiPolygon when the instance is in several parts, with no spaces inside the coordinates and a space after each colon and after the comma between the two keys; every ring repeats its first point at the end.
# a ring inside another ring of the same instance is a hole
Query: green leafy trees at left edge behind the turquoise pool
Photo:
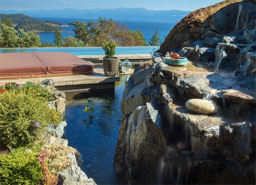
{"type": "Polygon", "coordinates": [[[41,38],[34,32],[15,30],[5,23],[0,25],[0,47],[40,47],[41,38]]]}

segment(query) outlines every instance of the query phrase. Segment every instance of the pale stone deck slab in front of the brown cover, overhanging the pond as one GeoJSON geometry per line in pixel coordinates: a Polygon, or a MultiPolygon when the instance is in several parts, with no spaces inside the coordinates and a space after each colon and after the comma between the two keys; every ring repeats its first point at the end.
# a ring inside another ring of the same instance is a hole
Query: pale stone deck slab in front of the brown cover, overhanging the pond
{"type": "Polygon", "coordinates": [[[120,77],[118,76],[106,77],[103,69],[94,69],[94,73],[92,74],[1,79],[0,85],[5,85],[5,83],[8,82],[16,82],[22,86],[25,85],[27,81],[32,81],[37,84],[44,79],[52,79],[53,82],[55,82],[55,87],[64,92],[113,89],[115,87],[115,82],[120,81],[120,77]]]}

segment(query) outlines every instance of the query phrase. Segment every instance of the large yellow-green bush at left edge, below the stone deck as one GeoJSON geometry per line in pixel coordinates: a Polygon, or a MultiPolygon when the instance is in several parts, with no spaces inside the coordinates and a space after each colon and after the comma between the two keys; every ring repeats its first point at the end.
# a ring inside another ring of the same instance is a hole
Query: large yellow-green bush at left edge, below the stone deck
{"type": "Polygon", "coordinates": [[[29,124],[34,120],[42,124],[38,132],[50,123],[59,123],[59,112],[49,108],[43,93],[36,88],[26,86],[0,94],[0,139],[9,148],[33,142],[29,124]]]}

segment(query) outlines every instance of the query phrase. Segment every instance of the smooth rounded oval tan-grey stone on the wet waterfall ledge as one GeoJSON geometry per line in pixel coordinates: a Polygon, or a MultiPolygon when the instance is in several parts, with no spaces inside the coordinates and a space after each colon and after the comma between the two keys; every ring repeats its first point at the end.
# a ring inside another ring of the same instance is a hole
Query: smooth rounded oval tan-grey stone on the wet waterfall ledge
{"type": "Polygon", "coordinates": [[[215,114],[219,111],[218,106],[211,100],[204,99],[189,99],[185,103],[188,110],[200,114],[215,114]]]}

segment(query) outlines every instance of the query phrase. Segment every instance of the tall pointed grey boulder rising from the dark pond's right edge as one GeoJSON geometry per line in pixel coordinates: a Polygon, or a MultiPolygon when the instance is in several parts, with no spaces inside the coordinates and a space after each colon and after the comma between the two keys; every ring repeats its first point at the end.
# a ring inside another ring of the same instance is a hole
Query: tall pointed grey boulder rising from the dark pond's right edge
{"type": "Polygon", "coordinates": [[[155,124],[161,119],[150,103],[138,106],[123,119],[114,156],[115,170],[131,184],[148,184],[166,150],[166,140],[155,124]]]}

